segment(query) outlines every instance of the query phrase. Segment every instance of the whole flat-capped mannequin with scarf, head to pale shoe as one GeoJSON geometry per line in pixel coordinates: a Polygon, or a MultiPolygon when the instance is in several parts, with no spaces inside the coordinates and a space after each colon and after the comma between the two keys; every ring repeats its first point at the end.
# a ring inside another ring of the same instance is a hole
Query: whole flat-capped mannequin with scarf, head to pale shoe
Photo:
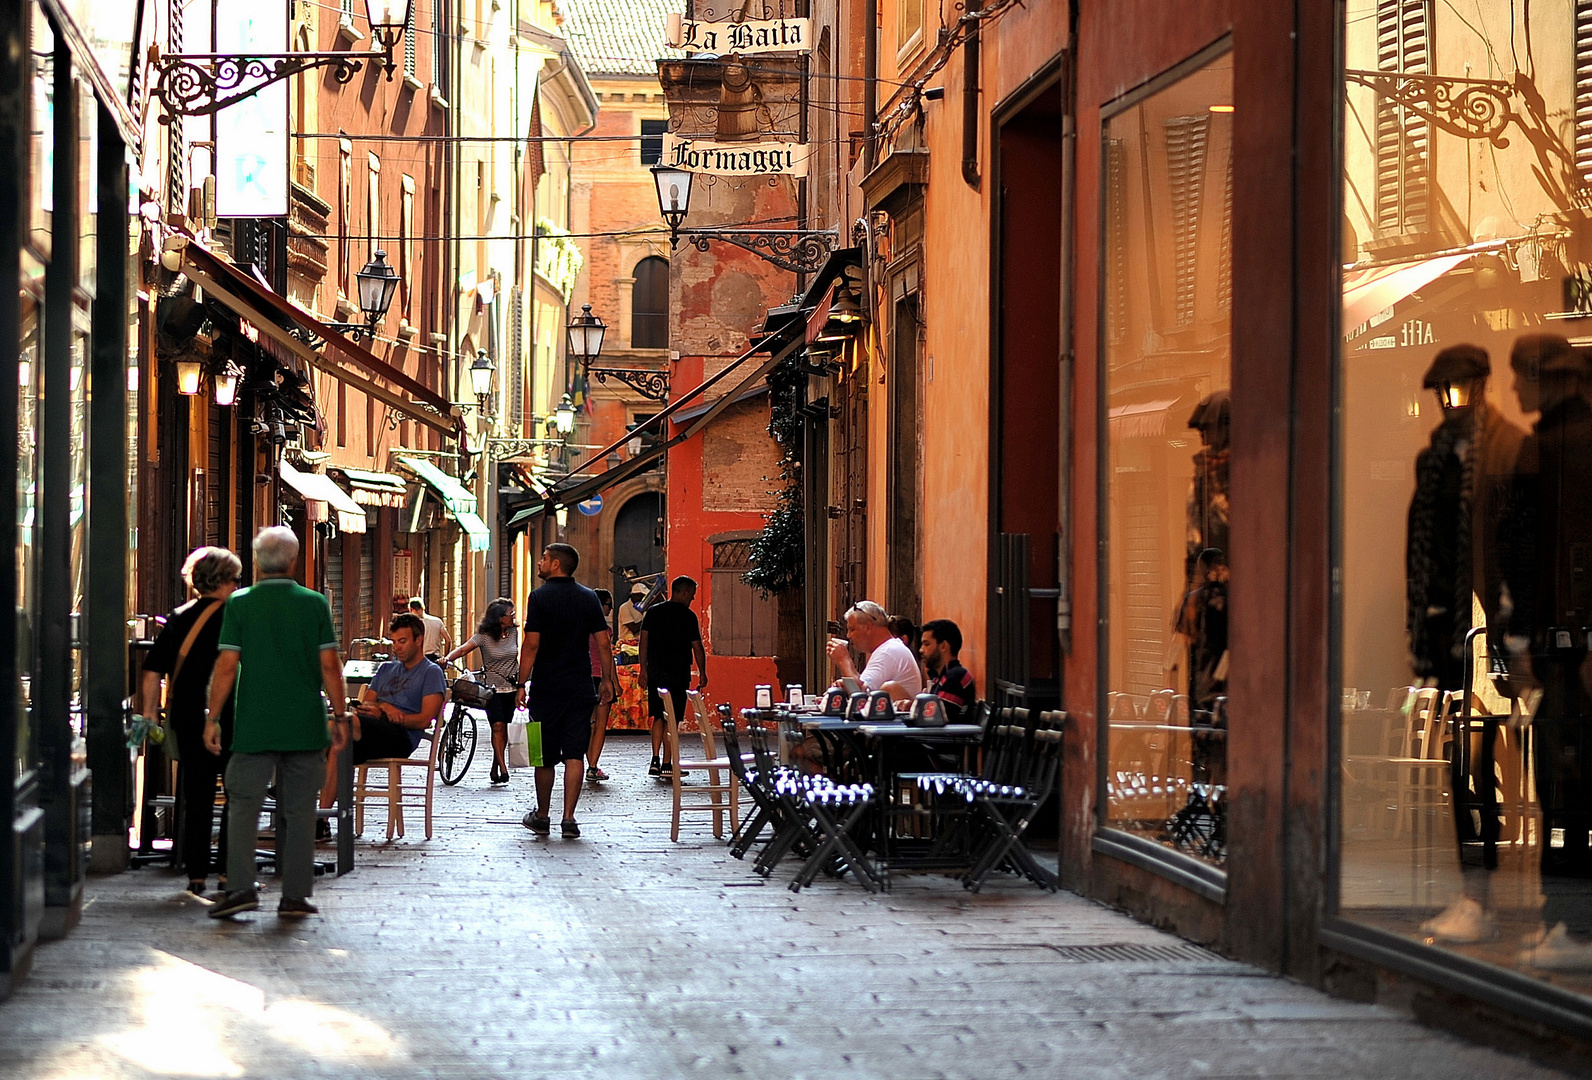
{"type": "MultiPolygon", "coordinates": [[[[1465,648],[1473,594],[1489,626],[1498,621],[1503,575],[1493,537],[1508,503],[1524,432],[1487,403],[1492,362],[1477,346],[1436,355],[1423,389],[1438,397],[1442,421],[1415,457],[1415,494],[1406,532],[1406,628],[1417,682],[1441,690],[1465,685],[1465,648]]],[[[1465,895],[1422,925],[1442,941],[1468,943],[1496,933],[1487,913],[1489,878],[1498,863],[1500,808],[1493,781],[1496,725],[1471,733],[1471,774],[1452,755],[1450,814],[1465,895]],[[1458,803],[1474,808],[1460,809],[1458,803]]]]}

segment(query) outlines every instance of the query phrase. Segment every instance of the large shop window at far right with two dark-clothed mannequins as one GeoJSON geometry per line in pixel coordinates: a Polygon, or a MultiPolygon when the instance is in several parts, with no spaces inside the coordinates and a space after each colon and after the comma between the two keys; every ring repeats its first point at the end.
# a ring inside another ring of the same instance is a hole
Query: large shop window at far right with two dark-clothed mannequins
{"type": "Polygon", "coordinates": [[[1592,992],[1592,3],[1345,14],[1339,914],[1592,992]]]}

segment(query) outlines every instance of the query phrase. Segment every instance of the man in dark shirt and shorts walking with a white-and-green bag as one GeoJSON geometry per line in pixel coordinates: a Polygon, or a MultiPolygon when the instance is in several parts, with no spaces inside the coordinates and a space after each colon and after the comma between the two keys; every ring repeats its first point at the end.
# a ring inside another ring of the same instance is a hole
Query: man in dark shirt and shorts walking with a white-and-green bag
{"type": "Polygon", "coordinates": [[[575,824],[575,804],[581,796],[586,747],[592,739],[592,709],[599,701],[613,701],[618,685],[602,602],[572,577],[579,561],[579,553],[567,543],[549,543],[541,551],[537,577],[544,585],[525,597],[525,636],[519,645],[519,699],[529,706],[530,718],[541,725],[543,761],[537,766],[537,809],[525,814],[521,824],[538,836],[552,832],[548,804],[562,761],[565,839],[581,835],[575,824]],[[595,688],[592,636],[602,658],[602,679],[595,688]]]}

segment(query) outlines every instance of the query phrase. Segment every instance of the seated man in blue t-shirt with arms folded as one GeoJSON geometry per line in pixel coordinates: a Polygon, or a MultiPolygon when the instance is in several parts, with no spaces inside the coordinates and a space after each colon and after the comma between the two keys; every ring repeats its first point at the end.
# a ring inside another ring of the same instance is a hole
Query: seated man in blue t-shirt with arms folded
{"type": "MultiPolygon", "coordinates": [[[[387,636],[393,642],[393,658],[376,669],[353,710],[355,765],[414,753],[447,695],[443,669],[425,658],[425,623],[414,615],[395,615],[387,636]]],[[[331,806],[336,795],[338,755],[328,753],[320,804],[331,806]]]]}

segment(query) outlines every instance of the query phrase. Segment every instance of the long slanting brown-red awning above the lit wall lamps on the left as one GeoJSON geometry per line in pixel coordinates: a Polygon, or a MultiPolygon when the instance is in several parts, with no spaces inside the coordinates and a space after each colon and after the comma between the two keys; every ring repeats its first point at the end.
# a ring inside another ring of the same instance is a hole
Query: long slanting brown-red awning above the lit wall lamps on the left
{"type": "Polygon", "coordinates": [[[444,435],[458,433],[458,417],[447,398],[377,358],[371,350],[353,344],[302,307],[277,296],[193,237],[175,239],[183,242],[183,272],[188,277],[295,357],[371,395],[411,421],[444,435]],[[320,338],[325,342],[323,352],[307,346],[288,327],[296,327],[310,338],[320,338]]]}

